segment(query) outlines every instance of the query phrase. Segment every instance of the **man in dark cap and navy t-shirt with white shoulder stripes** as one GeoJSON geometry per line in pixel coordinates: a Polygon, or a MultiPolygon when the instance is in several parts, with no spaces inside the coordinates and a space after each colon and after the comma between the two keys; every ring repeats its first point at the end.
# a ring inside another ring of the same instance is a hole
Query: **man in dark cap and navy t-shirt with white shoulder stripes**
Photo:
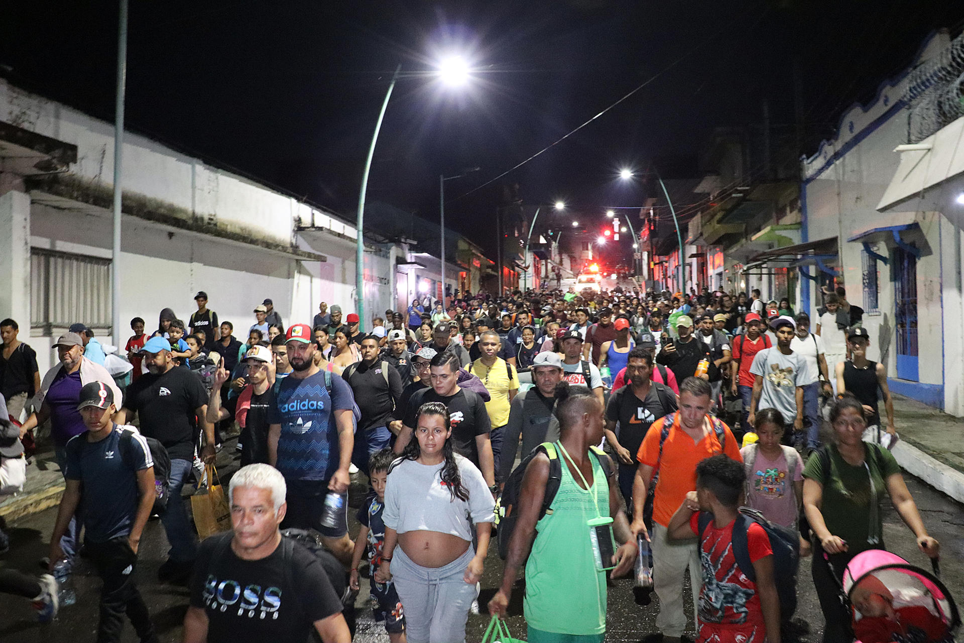
{"type": "Polygon", "coordinates": [[[67,490],[50,539],[50,569],[64,557],[60,540],[83,491],[85,549],[104,583],[97,640],[120,641],[127,614],[140,640],[157,641],[134,584],[141,533],[156,497],[150,450],[139,433],[113,422],[114,391],[102,382],[81,388],[77,411],[87,431],[67,442],[67,490]]]}

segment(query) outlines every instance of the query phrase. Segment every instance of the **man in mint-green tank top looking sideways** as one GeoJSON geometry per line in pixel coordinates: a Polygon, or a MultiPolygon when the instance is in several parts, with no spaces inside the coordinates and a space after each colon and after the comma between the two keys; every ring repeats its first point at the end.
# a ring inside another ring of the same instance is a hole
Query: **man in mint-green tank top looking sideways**
{"type": "Polygon", "coordinates": [[[489,611],[505,616],[516,574],[524,564],[526,640],[601,643],[605,570],[611,568],[612,576],[629,573],[636,544],[612,475],[615,467],[608,456],[593,450],[603,440],[603,406],[589,388],[566,382],[557,385],[555,398],[559,442],[540,451],[525,469],[515,509],[519,519],[509,541],[502,585],[489,602],[489,611]],[[557,462],[552,463],[553,459],[557,462]],[[551,512],[543,515],[553,468],[561,469],[559,490],[552,498],[551,512]],[[610,524],[622,546],[598,559],[605,548],[596,543],[610,538],[610,524]]]}

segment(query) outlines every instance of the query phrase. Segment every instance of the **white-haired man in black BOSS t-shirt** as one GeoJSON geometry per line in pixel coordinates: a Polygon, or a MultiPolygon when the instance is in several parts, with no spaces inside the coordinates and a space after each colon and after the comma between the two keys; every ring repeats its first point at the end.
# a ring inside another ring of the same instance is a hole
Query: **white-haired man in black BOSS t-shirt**
{"type": "Polygon", "coordinates": [[[308,549],[281,536],[284,476],[269,465],[231,478],[229,532],[198,552],[184,643],[305,641],[313,628],[325,643],[350,643],[341,600],[308,549]]]}

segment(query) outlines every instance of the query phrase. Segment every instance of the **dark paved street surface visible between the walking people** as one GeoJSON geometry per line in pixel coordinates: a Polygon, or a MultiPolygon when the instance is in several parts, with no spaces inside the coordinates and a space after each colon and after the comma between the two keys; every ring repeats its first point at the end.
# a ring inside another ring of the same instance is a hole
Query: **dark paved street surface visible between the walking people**
{"type": "MultiPolygon", "coordinates": [[[[221,458],[225,459],[223,453],[221,458]]],[[[364,479],[358,479],[352,488],[352,504],[358,505],[364,493],[364,479]]],[[[930,533],[941,541],[943,547],[943,577],[955,596],[964,595],[964,569],[960,561],[964,560],[964,506],[939,494],[914,478],[908,479],[911,489],[924,522],[930,533]]],[[[10,533],[13,547],[0,564],[13,566],[21,570],[38,570],[37,561],[46,555],[47,538],[53,528],[55,509],[47,509],[33,516],[15,521],[11,524],[10,533]]],[[[357,530],[358,523],[352,524],[357,530]]],[[[888,547],[904,556],[913,563],[927,565],[923,554],[917,551],[910,532],[900,522],[896,512],[889,505],[885,513],[884,534],[888,547]]],[[[164,559],[167,544],[160,522],[148,523],[141,545],[140,568],[138,575],[140,587],[150,606],[151,616],[161,634],[162,641],[179,641],[181,622],[188,601],[187,590],[157,583],[154,578],[158,566],[164,559]]],[[[479,602],[482,610],[485,603],[492,596],[501,573],[501,561],[495,553],[495,548],[489,557],[486,575],[482,581],[482,596],[479,602]]],[[[367,581],[362,582],[364,590],[367,581]]],[[[29,603],[20,600],[4,599],[4,607],[0,610],[0,641],[4,643],[83,643],[93,641],[97,621],[97,588],[99,581],[95,576],[75,575],[74,585],[77,591],[77,604],[67,607],[61,612],[58,621],[49,626],[40,626],[29,603]]],[[[817,605],[817,597],[810,579],[809,560],[805,560],[800,574],[799,584],[800,606],[797,610],[797,622],[803,624],[804,632],[801,641],[818,641],[822,625],[822,616],[817,605]],[[806,628],[809,627],[809,631],[806,628]]],[[[356,641],[388,641],[381,624],[371,622],[370,609],[366,607],[366,596],[362,591],[359,597],[359,630],[356,641]]],[[[610,641],[642,641],[655,630],[656,597],[648,607],[640,607],[633,602],[630,581],[618,580],[609,589],[608,635],[610,641]]],[[[509,627],[513,634],[524,638],[522,622],[522,594],[517,592],[513,597],[515,613],[519,614],[509,620],[509,627]]],[[[473,615],[469,618],[468,640],[478,641],[488,624],[485,614],[473,615]]],[[[688,632],[692,635],[692,631],[688,632]]],[[[130,627],[127,627],[125,641],[134,641],[136,637],[130,627]]]]}

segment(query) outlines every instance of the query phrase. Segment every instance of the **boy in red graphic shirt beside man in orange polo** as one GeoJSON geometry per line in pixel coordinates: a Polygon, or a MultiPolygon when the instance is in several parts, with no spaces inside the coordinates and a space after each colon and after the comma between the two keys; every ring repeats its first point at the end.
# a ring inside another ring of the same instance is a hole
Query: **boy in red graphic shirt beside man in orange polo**
{"type": "Polygon", "coordinates": [[[733,529],[739,515],[746,473],[725,455],[696,467],[696,491],[690,492],[669,522],[670,540],[700,540],[703,588],[700,590],[696,643],[780,643],[780,603],[773,580],[773,550],[763,527],[751,522],[747,549],[757,581],[736,563],[733,529]],[[700,534],[700,512],[712,520],[700,534]]]}

